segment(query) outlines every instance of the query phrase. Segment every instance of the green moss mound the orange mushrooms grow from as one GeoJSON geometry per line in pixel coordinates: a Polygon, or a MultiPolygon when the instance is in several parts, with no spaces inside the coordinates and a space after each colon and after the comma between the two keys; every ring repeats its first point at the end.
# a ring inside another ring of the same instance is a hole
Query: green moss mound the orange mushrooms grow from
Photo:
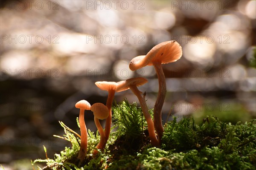
{"type": "MultiPolygon", "coordinates": [[[[152,113],[152,111],[151,111],[152,113]]],[[[135,103],[127,101],[113,107],[115,132],[104,152],[95,158],[92,152],[99,135],[89,131],[88,155],[78,164],[79,137],[64,127],[66,147],[55,159],[46,162],[44,170],[255,170],[256,120],[236,125],[207,116],[199,124],[193,118],[177,118],[164,126],[161,148],[151,147],[145,119],[135,103]]],[[[38,168],[40,169],[40,168],[38,168]]]]}

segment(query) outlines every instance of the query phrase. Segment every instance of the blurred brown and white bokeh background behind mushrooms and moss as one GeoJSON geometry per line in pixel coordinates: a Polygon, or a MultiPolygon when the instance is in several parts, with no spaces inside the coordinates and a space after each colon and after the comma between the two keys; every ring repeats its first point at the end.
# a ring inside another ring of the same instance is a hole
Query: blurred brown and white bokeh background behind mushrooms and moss
{"type": "MultiPolygon", "coordinates": [[[[171,115],[199,122],[214,114],[235,124],[256,117],[255,0],[22,0],[1,1],[0,164],[31,169],[68,142],[58,121],[76,132],[75,103],[105,103],[96,81],[145,77],[149,108],[158,91],[152,66],[128,64],[160,42],[176,40],[183,57],[163,65],[163,123],[171,115]],[[168,116],[169,115],[169,116],[168,116]]],[[[116,102],[137,101],[131,91],[116,102]]],[[[93,114],[86,125],[96,131],[93,114]]],[[[104,122],[102,122],[104,124],[104,122]]],[[[1,169],[2,167],[0,167],[1,169]]]]}

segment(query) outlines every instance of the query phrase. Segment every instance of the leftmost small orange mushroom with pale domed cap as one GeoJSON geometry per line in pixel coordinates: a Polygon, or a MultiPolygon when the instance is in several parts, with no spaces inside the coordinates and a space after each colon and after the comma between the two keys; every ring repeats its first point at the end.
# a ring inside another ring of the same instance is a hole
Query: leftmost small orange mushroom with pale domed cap
{"type": "Polygon", "coordinates": [[[84,122],[84,110],[90,110],[90,103],[86,100],[80,100],[75,105],[76,108],[80,109],[79,113],[79,125],[81,130],[81,144],[80,144],[80,150],[78,154],[78,159],[81,161],[84,160],[85,154],[87,152],[87,128],[84,122]]]}

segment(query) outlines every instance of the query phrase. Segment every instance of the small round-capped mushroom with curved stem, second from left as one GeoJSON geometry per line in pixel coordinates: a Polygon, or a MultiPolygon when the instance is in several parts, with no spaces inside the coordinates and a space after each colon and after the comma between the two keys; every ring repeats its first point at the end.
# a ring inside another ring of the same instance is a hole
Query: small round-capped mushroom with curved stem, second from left
{"type": "MultiPolygon", "coordinates": [[[[91,106],[90,110],[93,111],[94,122],[100,135],[100,141],[96,148],[103,150],[103,148],[105,147],[105,133],[102,126],[100,125],[99,119],[107,119],[107,117],[109,116],[108,107],[102,103],[94,103],[91,106]]],[[[94,150],[93,154],[95,155],[96,153],[98,153],[98,151],[94,150]]]]}

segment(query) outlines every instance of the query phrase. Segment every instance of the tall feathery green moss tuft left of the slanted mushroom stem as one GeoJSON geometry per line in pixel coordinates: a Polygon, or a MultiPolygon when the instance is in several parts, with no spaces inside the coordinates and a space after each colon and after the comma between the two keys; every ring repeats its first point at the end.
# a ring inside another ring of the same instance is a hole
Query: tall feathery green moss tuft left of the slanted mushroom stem
{"type": "MultiPolygon", "coordinates": [[[[153,116],[153,110],[150,110],[150,114],[153,116]]],[[[113,119],[116,131],[112,137],[116,140],[109,150],[115,158],[123,154],[137,154],[143,146],[150,144],[147,123],[136,102],[129,104],[125,100],[120,105],[114,105],[113,119]]]]}

